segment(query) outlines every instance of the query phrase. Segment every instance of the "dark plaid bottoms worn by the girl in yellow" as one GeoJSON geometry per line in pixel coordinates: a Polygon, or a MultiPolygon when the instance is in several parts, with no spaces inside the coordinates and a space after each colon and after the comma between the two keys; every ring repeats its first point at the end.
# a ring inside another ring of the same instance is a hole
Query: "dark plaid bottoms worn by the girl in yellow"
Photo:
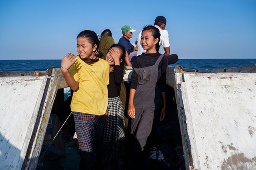
{"type": "Polygon", "coordinates": [[[90,169],[96,160],[96,143],[102,139],[106,115],[74,112],[77,140],[80,149],[80,166],[90,169]]]}

